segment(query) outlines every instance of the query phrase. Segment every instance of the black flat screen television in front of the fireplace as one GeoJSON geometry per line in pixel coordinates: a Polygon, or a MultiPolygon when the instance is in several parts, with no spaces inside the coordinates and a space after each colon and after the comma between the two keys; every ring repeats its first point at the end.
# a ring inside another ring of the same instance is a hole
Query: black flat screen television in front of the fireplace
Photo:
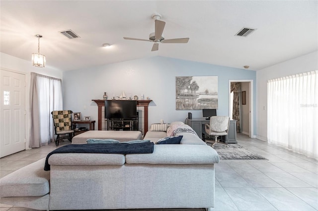
{"type": "Polygon", "coordinates": [[[136,119],[137,101],[106,100],[105,118],[107,119],[136,119]]]}

